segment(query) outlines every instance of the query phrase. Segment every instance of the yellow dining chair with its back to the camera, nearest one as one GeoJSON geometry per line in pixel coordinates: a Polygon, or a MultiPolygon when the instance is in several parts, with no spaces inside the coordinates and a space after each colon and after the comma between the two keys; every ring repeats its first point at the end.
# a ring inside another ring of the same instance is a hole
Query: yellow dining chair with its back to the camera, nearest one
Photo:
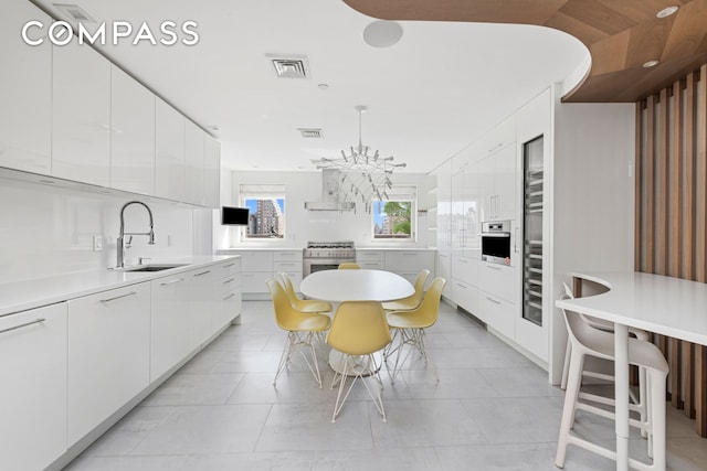
{"type": "Polygon", "coordinates": [[[368,394],[373,399],[383,421],[386,409],[383,408],[383,384],[380,381],[380,366],[377,364],[373,353],[382,350],[390,343],[390,329],[386,321],[386,311],[380,302],[376,301],[344,301],[339,304],[331,321],[331,329],[327,335],[327,343],[344,354],[344,368],[335,372],[331,381],[331,389],[339,382],[339,392],[336,396],[331,421],[341,411],[344,403],[357,379],[361,379],[368,394]],[[347,377],[351,376],[351,383],[346,388],[347,377]],[[378,386],[378,394],[373,395],[365,376],[373,378],[378,386]],[[346,393],[344,389],[346,388],[346,393]]]}

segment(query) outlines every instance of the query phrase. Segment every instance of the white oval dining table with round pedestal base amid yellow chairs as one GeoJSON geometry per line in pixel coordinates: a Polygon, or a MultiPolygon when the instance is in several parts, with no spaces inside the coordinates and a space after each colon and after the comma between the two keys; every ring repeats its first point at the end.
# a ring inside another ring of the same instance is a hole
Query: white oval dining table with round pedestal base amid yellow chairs
{"type": "MultiPolygon", "coordinates": [[[[321,270],[308,275],[299,283],[299,291],[307,298],[331,302],[394,301],[415,292],[414,287],[398,274],[384,270],[348,269],[321,270]]],[[[380,355],[376,355],[380,357],[380,355]]],[[[345,355],[337,350],[329,352],[329,366],[344,371],[345,355]]],[[[381,364],[376,361],[377,367],[381,364]]],[[[367,368],[368,370],[368,368],[367,368]]],[[[372,372],[371,372],[372,373],[372,372]]],[[[356,374],[352,371],[351,374],[356,374]]],[[[368,372],[365,374],[369,374],[368,372]]]]}

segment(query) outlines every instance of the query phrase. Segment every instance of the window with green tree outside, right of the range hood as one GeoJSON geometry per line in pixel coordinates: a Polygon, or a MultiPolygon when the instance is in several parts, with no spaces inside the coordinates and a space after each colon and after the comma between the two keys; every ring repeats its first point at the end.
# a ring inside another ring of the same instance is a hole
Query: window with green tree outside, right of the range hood
{"type": "Polygon", "coordinates": [[[372,205],[373,238],[410,240],[415,236],[415,186],[393,186],[388,200],[374,200],[372,205]]]}

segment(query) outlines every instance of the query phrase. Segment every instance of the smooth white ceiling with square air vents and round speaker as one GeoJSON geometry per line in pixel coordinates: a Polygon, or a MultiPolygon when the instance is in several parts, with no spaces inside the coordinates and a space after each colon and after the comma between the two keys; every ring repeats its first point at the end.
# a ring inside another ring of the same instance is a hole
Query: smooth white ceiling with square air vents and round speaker
{"type": "Polygon", "coordinates": [[[363,144],[428,172],[549,84],[583,72],[589,57],[566,33],[487,23],[401,22],[401,41],[377,49],[362,39],[374,20],[339,0],[76,4],[97,22],[147,21],[158,38],[165,20],[197,21],[194,46],[102,50],[200,126],[218,126],[222,163],[235,170],[313,171],[312,159],[358,142],[355,106],[366,105],[363,144]],[[277,78],[268,53],[306,55],[310,78],[277,78]],[[324,138],[297,128],[321,128],[324,138]]]}

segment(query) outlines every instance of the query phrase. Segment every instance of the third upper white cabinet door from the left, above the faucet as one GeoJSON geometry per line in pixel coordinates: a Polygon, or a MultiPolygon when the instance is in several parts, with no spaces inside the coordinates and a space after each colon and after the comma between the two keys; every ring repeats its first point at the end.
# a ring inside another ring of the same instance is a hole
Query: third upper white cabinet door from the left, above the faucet
{"type": "Polygon", "coordinates": [[[155,193],[155,95],[110,66],[110,186],[155,193]]]}

